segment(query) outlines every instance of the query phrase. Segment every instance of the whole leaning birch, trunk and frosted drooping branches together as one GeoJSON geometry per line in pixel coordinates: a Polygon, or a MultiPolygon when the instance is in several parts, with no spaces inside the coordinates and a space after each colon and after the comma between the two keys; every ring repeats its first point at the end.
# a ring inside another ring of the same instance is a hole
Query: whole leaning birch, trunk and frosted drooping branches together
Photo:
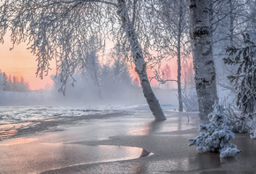
{"type": "Polygon", "coordinates": [[[150,55],[151,43],[142,20],[146,16],[143,5],[145,1],[138,0],[5,0],[0,7],[0,41],[4,42],[8,30],[13,45],[28,41],[37,56],[37,75],[47,75],[49,62],[56,60],[63,83],[84,63],[92,36],[102,39],[97,44],[100,48],[107,39],[122,42],[155,120],[165,120],[147,77],[145,56],[150,55]]]}

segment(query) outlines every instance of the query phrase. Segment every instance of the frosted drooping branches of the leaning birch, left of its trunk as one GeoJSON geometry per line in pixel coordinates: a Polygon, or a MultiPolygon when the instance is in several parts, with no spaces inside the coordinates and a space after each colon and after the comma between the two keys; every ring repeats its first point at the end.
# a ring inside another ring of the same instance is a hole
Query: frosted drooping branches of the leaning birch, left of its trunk
{"type": "Polygon", "coordinates": [[[55,60],[63,82],[61,91],[65,91],[67,79],[75,82],[73,73],[84,66],[83,57],[93,44],[90,39],[98,38],[99,50],[104,47],[106,33],[118,33],[117,27],[108,27],[116,23],[115,9],[117,4],[104,0],[5,1],[0,6],[0,41],[4,42],[8,30],[13,47],[26,41],[37,56],[36,75],[41,78],[48,75],[50,62],[55,60]]]}

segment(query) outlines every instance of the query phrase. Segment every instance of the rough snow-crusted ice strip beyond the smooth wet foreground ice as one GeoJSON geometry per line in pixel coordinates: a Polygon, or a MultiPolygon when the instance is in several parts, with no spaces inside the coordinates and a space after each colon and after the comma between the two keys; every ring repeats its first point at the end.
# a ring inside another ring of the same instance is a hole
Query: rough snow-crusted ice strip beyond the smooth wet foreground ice
{"type": "Polygon", "coordinates": [[[57,126],[80,120],[94,120],[132,114],[135,106],[1,106],[0,141],[41,131],[56,131],[57,126]]]}

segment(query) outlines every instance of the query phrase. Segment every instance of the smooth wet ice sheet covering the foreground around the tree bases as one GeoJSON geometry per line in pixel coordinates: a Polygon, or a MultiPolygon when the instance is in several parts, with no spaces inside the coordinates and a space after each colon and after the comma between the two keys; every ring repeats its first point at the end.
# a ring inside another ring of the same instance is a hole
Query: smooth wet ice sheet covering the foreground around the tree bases
{"type": "Polygon", "coordinates": [[[187,142],[197,135],[197,114],[165,112],[166,121],[141,110],[28,128],[0,141],[0,173],[256,173],[248,134],[236,134],[235,157],[199,154],[187,142]]]}

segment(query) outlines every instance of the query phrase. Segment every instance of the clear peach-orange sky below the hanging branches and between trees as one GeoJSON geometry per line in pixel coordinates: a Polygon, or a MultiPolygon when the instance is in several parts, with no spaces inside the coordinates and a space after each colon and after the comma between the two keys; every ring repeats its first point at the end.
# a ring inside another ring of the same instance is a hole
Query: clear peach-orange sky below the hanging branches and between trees
{"type": "MultiPolygon", "coordinates": [[[[8,37],[5,37],[4,44],[0,44],[0,69],[5,72],[7,76],[23,76],[26,82],[29,84],[29,88],[33,91],[43,90],[53,86],[53,81],[50,76],[56,74],[56,64],[52,63],[48,76],[43,76],[43,79],[36,77],[37,62],[36,56],[30,53],[30,50],[26,49],[26,44],[21,43],[19,46],[15,46],[12,50],[11,41],[8,37]]],[[[177,60],[172,59],[168,63],[171,69],[171,78],[177,78],[177,60]]],[[[134,68],[134,67],[133,67],[134,68]]],[[[131,76],[134,79],[137,75],[134,70],[130,70],[131,76]]],[[[148,76],[153,76],[152,71],[148,71],[148,76]]],[[[153,83],[156,84],[155,82],[153,83]]]]}

